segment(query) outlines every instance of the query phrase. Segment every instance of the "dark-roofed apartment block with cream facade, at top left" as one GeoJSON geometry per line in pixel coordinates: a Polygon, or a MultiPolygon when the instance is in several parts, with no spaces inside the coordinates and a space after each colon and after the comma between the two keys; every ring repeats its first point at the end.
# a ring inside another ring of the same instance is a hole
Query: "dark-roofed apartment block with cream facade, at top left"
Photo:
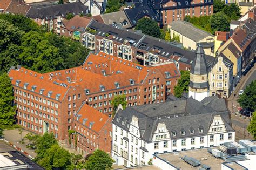
{"type": "Polygon", "coordinates": [[[44,26],[46,30],[53,30],[60,34],[60,25],[68,13],[77,16],[89,13],[89,10],[88,6],[84,6],[80,1],[65,4],[43,2],[31,4],[25,16],[33,19],[38,25],[44,26]]]}

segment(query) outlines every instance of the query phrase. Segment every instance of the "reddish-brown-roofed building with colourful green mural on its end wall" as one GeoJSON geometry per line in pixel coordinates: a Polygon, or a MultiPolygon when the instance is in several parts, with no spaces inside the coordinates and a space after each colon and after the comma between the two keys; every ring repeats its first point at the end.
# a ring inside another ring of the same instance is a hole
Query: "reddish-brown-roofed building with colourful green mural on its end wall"
{"type": "Polygon", "coordinates": [[[90,22],[92,22],[92,19],[79,16],[75,16],[70,20],[64,20],[60,25],[60,35],[70,37],[80,42],[82,38],[81,34],[85,32],[90,22]]]}

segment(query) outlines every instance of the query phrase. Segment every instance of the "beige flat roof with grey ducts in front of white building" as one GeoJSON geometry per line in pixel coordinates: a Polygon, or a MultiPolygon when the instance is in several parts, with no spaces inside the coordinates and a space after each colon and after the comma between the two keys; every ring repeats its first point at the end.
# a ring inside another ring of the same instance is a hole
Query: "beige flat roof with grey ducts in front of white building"
{"type": "MultiPolygon", "coordinates": [[[[211,147],[211,149],[219,148],[219,147],[211,147]]],[[[193,149],[189,151],[180,151],[180,152],[172,152],[172,153],[165,153],[165,154],[158,154],[157,156],[171,165],[180,168],[180,169],[198,169],[198,167],[193,167],[192,165],[185,162],[181,157],[192,157],[197,159],[201,162],[201,165],[210,166],[211,169],[221,169],[221,164],[225,162],[221,158],[215,158],[211,153],[208,153],[208,148],[203,149],[193,149]],[[202,160],[204,159],[204,160],[202,160]]],[[[200,166],[199,166],[200,167],[200,166]]]]}

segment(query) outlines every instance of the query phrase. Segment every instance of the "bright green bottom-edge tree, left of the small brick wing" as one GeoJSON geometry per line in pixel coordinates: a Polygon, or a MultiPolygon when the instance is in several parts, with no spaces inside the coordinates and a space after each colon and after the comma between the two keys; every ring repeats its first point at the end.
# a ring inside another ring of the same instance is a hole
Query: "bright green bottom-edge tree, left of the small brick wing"
{"type": "Polygon", "coordinates": [[[39,164],[45,169],[65,169],[71,164],[71,155],[69,151],[65,150],[63,147],[57,144],[52,145],[50,148],[46,149],[39,164]]]}

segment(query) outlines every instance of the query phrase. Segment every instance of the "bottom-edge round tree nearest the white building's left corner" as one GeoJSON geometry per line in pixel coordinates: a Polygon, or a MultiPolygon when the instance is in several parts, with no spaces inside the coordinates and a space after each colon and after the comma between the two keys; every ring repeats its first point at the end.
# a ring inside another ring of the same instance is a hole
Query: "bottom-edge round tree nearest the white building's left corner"
{"type": "Polygon", "coordinates": [[[111,169],[114,160],[104,151],[97,149],[85,162],[86,169],[111,169]]]}

